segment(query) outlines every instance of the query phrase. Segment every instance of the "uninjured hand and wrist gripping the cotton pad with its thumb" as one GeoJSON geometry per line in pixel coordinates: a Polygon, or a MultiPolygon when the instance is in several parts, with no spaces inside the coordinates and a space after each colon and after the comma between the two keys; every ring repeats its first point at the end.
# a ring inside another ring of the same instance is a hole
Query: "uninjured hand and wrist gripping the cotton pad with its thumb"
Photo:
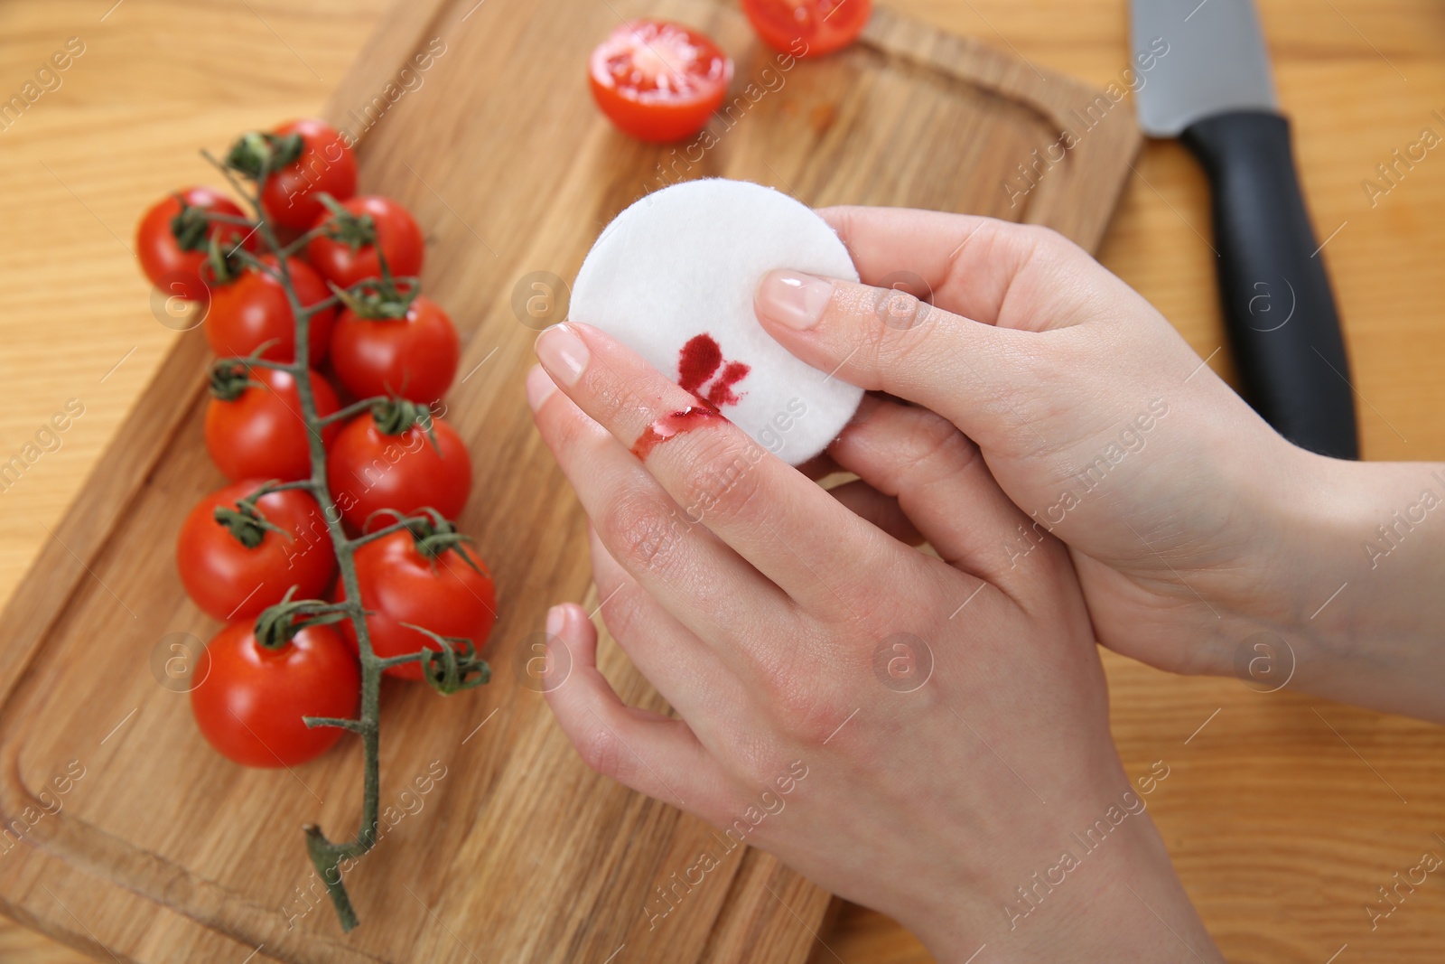
{"type": "MultiPolygon", "coordinates": [[[[1394,539],[1409,561],[1390,559],[1389,580],[1366,545],[1390,549],[1377,525],[1423,489],[1445,502],[1432,467],[1287,444],[1157,311],[1052,231],[932,211],[821,214],[864,283],[773,272],[759,319],[814,367],[928,406],[977,442],[1027,523],[988,548],[1027,558],[1049,533],[1066,542],[1100,642],[1163,669],[1292,678],[1445,720],[1433,642],[1445,522],[1394,539]],[[900,280],[932,304],[889,291],[900,280]]],[[[910,516],[971,512],[938,491],[899,500],[910,516]]]]}

